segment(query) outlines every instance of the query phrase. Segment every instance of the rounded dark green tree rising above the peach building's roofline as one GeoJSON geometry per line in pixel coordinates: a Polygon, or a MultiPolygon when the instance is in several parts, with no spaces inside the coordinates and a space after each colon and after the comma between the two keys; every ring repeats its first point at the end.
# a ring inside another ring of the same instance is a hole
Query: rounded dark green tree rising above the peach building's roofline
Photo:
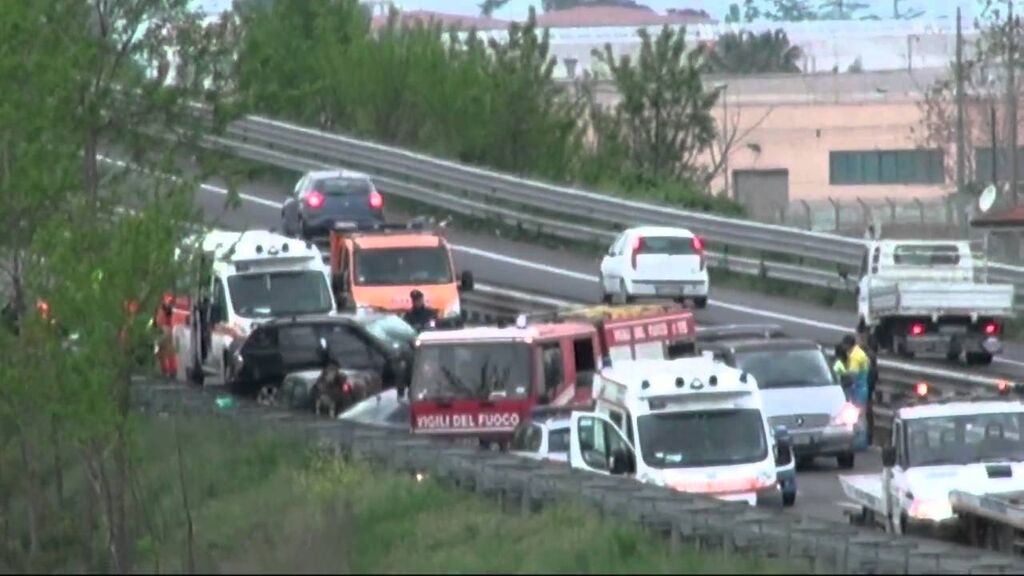
{"type": "Polygon", "coordinates": [[[706,71],[712,74],[799,73],[804,56],[782,29],[723,34],[705,52],[706,71]]]}

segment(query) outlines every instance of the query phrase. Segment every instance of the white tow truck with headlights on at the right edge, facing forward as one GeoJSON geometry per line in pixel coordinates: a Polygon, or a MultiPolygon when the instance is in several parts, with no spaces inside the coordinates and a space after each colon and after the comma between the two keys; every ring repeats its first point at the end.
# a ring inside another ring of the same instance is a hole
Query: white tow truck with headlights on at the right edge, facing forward
{"type": "Polygon", "coordinates": [[[928,383],[919,382],[914,398],[894,412],[882,472],[839,477],[852,500],[850,522],[961,539],[958,517],[977,511],[971,508],[977,497],[1020,492],[1024,403],[1006,398],[1011,390],[1021,387],[1000,381],[998,396],[929,400],[928,383]],[[959,496],[951,502],[951,495],[959,496]]]}

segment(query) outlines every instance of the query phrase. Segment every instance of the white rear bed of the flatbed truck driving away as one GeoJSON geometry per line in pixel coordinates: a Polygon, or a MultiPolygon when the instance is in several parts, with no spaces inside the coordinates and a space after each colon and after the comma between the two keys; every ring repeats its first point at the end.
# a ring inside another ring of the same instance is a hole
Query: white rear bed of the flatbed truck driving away
{"type": "Polygon", "coordinates": [[[872,316],[1010,317],[1014,314],[1012,284],[976,282],[898,282],[869,288],[872,316]]]}

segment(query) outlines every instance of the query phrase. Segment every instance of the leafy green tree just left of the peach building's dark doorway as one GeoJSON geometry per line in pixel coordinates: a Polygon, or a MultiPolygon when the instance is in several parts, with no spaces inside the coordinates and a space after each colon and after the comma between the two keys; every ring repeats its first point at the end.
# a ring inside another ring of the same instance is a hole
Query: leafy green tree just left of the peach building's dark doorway
{"type": "Polygon", "coordinates": [[[618,58],[611,45],[594,50],[594,57],[607,68],[620,101],[610,112],[592,106],[594,127],[603,127],[601,145],[627,152],[627,166],[646,181],[707,179],[707,168],[698,159],[717,137],[711,110],[717,90],[705,90],[699,57],[686,52],[685,33],[666,26],[657,37],[640,30],[642,45],[634,63],[618,58]],[[610,115],[610,116],[609,116],[610,115]]]}

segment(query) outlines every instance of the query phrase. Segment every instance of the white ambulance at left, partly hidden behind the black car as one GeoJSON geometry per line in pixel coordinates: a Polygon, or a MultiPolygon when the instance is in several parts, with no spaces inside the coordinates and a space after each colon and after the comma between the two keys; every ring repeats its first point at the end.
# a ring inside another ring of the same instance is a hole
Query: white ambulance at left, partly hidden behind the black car
{"type": "Polygon", "coordinates": [[[330,270],[310,243],[266,231],[212,231],[186,239],[178,257],[187,259],[190,292],[187,321],[173,326],[179,380],[202,384],[212,375],[227,382],[232,346],[256,324],[337,312],[330,270]]]}

